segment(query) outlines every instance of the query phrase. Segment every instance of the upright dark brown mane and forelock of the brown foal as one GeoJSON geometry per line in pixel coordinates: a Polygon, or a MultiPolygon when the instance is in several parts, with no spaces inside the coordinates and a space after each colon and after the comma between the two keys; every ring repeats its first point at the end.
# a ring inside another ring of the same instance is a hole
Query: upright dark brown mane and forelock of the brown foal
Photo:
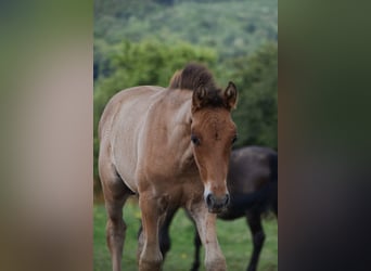
{"type": "Polygon", "coordinates": [[[203,106],[226,106],[221,89],[215,85],[210,72],[201,64],[191,63],[182,70],[176,72],[169,82],[169,88],[188,89],[191,91],[203,89],[206,92],[206,98],[203,99],[203,106]]]}

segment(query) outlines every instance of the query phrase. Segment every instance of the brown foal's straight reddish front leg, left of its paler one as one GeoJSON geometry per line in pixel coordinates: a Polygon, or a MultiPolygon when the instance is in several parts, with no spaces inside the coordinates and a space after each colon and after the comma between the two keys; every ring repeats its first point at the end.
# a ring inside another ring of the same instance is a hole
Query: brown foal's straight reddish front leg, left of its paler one
{"type": "Polygon", "coordinates": [[[163,255],[158,244],[158,225],[161,210],[158,202],[151,195],[141,195],[139,205],[142,211],[143,240],[139,250],[139,271],[159,271],[163,255]]]}

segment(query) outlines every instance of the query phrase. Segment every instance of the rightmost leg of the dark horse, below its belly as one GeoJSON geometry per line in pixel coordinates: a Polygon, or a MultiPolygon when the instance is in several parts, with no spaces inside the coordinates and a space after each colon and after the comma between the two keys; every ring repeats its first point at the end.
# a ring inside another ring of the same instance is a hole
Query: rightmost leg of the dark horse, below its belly
{"type": "Polygon", "coordinates": [[[253,235],[253,255],[250,260],[247,271],[255,271],[259,260],[261,247],[266,235],[261,227],[261,218],[259,211],[248,211],[246,214],[247,223],[253,235]]]}

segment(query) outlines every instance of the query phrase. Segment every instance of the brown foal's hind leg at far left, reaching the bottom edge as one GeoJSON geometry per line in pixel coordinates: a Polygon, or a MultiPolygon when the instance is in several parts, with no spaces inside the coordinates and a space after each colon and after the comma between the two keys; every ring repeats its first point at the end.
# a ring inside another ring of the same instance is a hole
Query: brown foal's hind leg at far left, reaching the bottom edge
{"type": "MultiPolygon", "coordinates": [[[[112,167],[113,168],[113,167],[112,167]]],[[[105,208],[107,212],[106,242],[111,253],[113,271],[121,270],[121,256],[126,224],[123,219],[123,206],[131,194],[115,170],[100,169],[105,208]]]]}

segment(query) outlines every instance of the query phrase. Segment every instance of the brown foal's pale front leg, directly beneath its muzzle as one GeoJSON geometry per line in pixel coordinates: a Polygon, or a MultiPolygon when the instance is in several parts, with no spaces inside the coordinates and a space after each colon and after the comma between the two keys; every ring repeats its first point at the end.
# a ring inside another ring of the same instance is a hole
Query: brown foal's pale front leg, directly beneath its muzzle
{"type": "Polygon", "coordinates": [[[208,212],[204,202],[191,206],[189,212],[197,225],[201,241],[205,246],[206,270],[226,271],[226,258],[221,253],[216,233],[216,215],[208,212]]]}

